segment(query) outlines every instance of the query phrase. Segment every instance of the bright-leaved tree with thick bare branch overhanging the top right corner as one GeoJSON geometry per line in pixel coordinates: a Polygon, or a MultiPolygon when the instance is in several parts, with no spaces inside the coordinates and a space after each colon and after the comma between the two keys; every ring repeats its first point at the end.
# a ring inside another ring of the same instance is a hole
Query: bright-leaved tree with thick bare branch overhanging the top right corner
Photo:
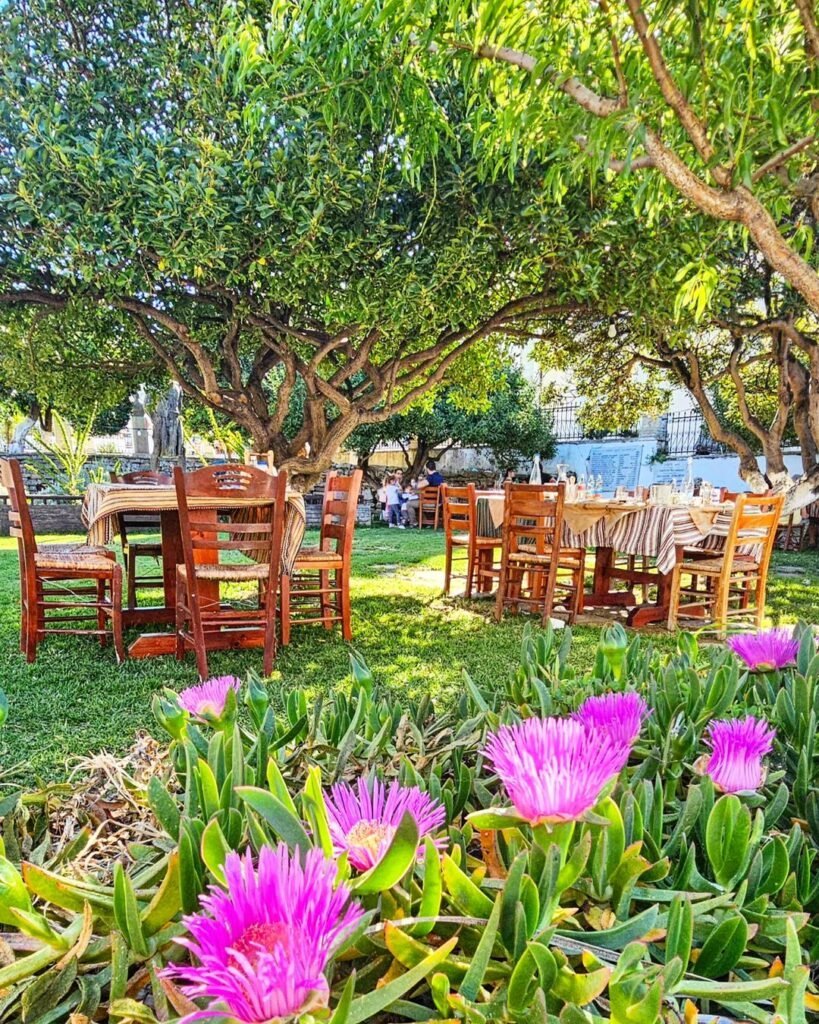
{"type": "Polygon", "coordinates": [[[813,0],[387,0],[383,17],[432,77],[463,65],[495,171],[558,156],[556,194],[583,164],[638,175],[645,216],[682,199],[736,225],[819,313],[813,0]]]}

